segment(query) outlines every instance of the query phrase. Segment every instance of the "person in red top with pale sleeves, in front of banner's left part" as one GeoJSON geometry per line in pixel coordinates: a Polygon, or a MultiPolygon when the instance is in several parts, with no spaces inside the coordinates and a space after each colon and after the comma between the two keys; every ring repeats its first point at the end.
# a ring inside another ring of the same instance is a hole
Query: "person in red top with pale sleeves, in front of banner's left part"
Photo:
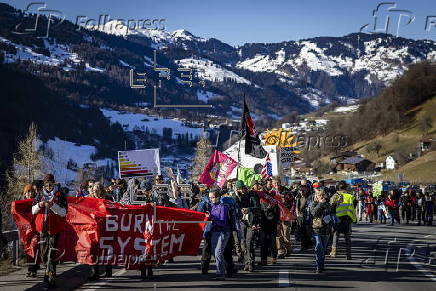
{"type": "Polygon", "coordinates": [[[44,282],[54,287],[56,279],[56,250],[59,234],[65,227],[67,199],[55,184],[54,176],[44,177],[44,187],[33,200],[32,214],[35,228],[40,233],[40,255],[46,266],[44,282]]]}

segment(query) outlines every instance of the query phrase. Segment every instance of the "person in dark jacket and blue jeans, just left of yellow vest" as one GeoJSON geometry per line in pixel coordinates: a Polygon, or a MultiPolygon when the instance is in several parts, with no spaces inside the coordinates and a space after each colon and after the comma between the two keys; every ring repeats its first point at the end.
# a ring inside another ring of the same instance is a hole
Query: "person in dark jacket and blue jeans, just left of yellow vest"
{"type": "Polygon", "coordinates": [[[312,234],[315,240],[316,273],[324,271],[325,254],[329,239],[331,208],[323,189],[316,189],[313,200],[309,203],[312,215],[312,234]]]}

